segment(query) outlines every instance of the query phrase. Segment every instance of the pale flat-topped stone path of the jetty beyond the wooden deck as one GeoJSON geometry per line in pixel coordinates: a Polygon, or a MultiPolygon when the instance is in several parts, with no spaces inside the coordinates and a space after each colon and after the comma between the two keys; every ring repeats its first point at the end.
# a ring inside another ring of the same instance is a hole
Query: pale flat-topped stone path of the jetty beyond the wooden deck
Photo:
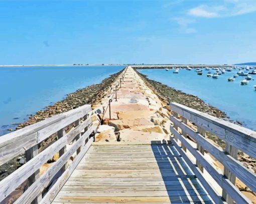
{"type": "Polygon", "coordinates": [[[169,139],[169,108],[145,84],[132,67],[127,67],[112,84],[111,91],[93,109],[102,125],[97,130],[95,144],[150,144],[151,141],[169,139]],[[122,78],[123,77],[123,78],[122,78]],[[121,83],[121,84],[120,84],[121,83]],[[115,99],[116,88],[116,99],[115,99]],[[109,99],[109,109],[106,110],[109,99]]]}

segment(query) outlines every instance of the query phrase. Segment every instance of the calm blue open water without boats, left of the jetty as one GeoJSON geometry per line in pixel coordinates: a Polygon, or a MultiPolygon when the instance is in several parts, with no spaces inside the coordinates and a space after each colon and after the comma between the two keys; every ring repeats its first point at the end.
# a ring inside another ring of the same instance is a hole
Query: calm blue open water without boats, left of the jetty
{"type": "Polygon", "coordinates": [[[0,135],[28,119],[28,114],[100,83],[125,66],[0,67],[0,135]]]}

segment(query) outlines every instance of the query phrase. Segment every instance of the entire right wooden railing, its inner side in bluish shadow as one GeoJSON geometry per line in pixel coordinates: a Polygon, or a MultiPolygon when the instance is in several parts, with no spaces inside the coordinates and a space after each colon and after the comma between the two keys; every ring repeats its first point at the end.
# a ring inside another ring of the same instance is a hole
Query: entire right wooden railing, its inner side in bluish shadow
{"type": "Polygon", "coordinates": [[[256,158],[256,132],[178,103],[171,103],[170,108],[173,113],[170,116],[173,122],[173,126],[170,127],[173,133],[171,141],[212,199],[216,203],[225,201],[250,203],[250,200],[235,186],[235,179],[239,178],[253,192],[256,192],[256,175],[237,160],[237,151],[256,158]],[[208,139],[206,133],[223,140],[225,149],[208,139]],[[191,159],[187,151],[195,157],[196,161],[191,159]],[[224,166],[223,172],[209,163],[205,152],[211,154],[224,166]],[[222,194],[207,181],[203,174],[204,169],[222,188],[222,194]]]}

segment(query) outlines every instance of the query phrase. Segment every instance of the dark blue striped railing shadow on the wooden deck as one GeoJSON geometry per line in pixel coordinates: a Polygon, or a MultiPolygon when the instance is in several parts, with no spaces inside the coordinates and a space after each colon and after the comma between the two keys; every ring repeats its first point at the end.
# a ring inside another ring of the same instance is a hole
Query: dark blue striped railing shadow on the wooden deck
{"type": "Polygon", "coordinates": [[[171,203],[213,203],[172,144],[151,143],[171,203]]]}

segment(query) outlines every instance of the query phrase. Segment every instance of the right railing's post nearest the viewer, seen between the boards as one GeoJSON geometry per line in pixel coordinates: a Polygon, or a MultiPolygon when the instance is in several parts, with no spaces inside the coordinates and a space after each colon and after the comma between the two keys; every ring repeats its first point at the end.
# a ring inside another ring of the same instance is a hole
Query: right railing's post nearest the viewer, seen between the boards
{"type": "MultiPolygon", "coordinates": [[[[226,143],[225,145],[225,153],[229,154],[233,158],[237,159],[237,148],[234,146],[229,145],[226,143]]],[[[235,184],[235,178],[236,176],[231,173],[228,168],[224,167],[224,173],[223,173],[228,180],[231,181],[231,183],[235,184]]],[[[223,189],[222,191],[222,197],[226,200],[228,204],[233,204],[234,200],[230,197],[230,195],[227,194],[227,192],[223,189]]]]}

